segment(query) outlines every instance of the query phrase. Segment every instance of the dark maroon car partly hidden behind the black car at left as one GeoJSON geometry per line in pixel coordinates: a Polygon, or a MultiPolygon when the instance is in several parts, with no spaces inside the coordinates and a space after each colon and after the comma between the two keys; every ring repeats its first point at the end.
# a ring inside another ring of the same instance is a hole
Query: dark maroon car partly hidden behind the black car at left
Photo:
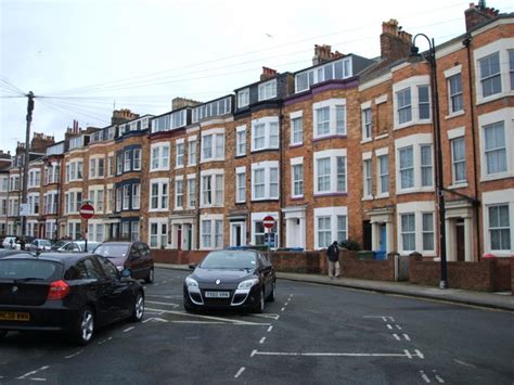
{"type": "Polygon", "coordinates": [[[119,271],[130,270],[130,277],[137,280],[154,282],[154,259],[144,242],[104,242],[94,254],[108,258],[119,271]]]}

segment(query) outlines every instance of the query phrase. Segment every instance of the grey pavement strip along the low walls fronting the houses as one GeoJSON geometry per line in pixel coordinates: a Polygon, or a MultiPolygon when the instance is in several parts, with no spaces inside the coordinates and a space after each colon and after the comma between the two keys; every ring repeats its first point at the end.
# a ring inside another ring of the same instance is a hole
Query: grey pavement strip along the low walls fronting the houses
{"type": "MultiPolygon", "coordinates": [[[[190,270],[188,265],[155,264],[155,267],[175,270],[190,270]]],[[[514,295],[512,295],[511,292],[474,292],[462,288],[439,288],[435,286],[424,286],[409,282],[371,281],[344,277],[331,279],[322,274],[300,274],[291,272],[277,272],[277,278],[281,280],[358,288],[375,293],[403,295],[408,297],[447,301],[467,306],[478,306],[514,312],[514,295]]]]}

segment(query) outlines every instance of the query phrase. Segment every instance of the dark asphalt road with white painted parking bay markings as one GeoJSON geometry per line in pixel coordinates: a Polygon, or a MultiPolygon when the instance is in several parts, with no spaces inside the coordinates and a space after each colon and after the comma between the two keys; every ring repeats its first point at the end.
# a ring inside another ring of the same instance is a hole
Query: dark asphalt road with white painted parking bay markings
{"type": "Polygon", "coordinates": [[[189,315],[158,269],[142,323],[85,348],[10,333],[0,383],[514,384],[514,315],[280,280],[264,315],[189,315]]]}

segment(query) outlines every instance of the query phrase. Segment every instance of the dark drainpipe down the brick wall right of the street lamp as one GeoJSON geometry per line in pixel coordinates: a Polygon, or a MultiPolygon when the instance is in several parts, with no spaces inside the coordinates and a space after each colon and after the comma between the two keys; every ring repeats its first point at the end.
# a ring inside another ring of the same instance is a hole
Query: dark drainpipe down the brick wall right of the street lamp
{"type": "Polygon", "coordinates": [[[476,229],[476,251],[478,260],[480,260],[480,218],[479,218],[479,201],[478,201],[478,172],[477,172],[477,152],[476,152],[476,125],[475,125],[475,101],[474,101],[474,88],[473,88],[473,75],[472,75],[472,52],[471,52],[471,42],[472,37],[471,34],[467,34],[466,38],[462,42],[467,50],[467,82],[470,87],[470,117],[471,117],[471,130],[472,130],[472,143],[473,143],[473,175],[474,175],[474,195],[475,195],[475,204],[473,205],[473,209],[475,211],[475,229],[476,229]]]}

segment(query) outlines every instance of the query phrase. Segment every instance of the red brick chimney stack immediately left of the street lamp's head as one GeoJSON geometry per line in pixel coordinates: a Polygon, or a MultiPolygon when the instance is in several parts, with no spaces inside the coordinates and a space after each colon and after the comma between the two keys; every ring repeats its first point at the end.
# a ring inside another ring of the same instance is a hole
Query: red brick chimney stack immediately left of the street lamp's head
{"type": "Polygon", "coordinates": [[[382,23],[381,56],[383,60],[399,60],[409,56],[412,35],[401,30],[395,18],[382,23]]]}

